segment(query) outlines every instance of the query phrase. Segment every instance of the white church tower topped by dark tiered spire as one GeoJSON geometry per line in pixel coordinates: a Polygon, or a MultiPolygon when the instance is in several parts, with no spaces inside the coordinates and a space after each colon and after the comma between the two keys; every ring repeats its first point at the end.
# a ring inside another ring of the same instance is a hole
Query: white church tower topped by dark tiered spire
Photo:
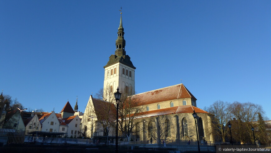
{"type": "MultiPolygon", "coordinates": [[[[126,55],[125,40],[124,40],[124,28],[122,27],[122,17],[120,26],[117,32],[116,51],[115,55],[109,57],[107,65],[104,66],[104,84],[103,90],[105,92],[116,92],[119,87],[120,92],[131,91],[131,94],[135,94],[135,67],[130,60],[130,57],[126,55]]],[[[104,100],[110,101],[105,98],[104,100]]]]}

